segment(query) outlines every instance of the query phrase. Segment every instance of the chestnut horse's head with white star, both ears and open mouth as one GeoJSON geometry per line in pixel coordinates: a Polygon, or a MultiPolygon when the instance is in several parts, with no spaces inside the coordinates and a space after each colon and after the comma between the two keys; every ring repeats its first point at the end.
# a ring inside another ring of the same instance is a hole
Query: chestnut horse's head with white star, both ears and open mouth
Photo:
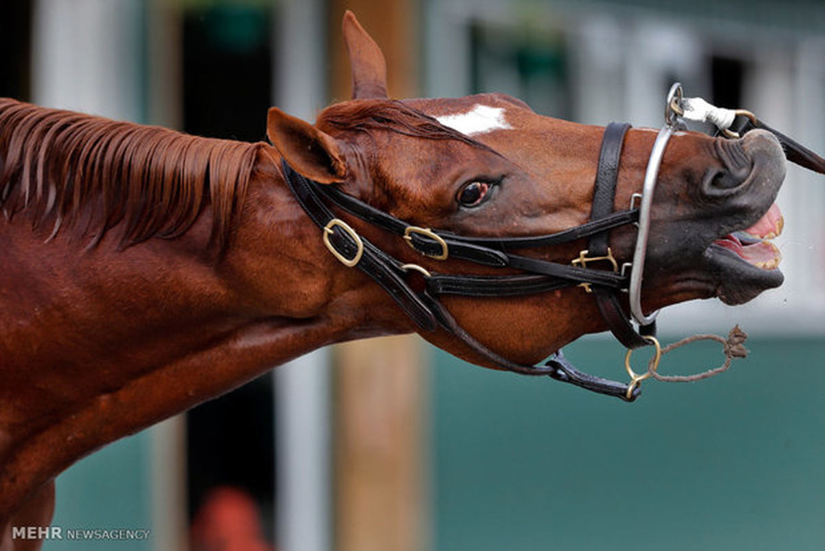
{"type": "MultiPolygon", "coordinates": [[[[384,57],[351,14],[344,35],[351,55],[351,101],[328,107],[315,125],[270,111],[271,142],[296,172],[417,228],[446,234],[546,235],[591,219],[603,127],[539,115],[501,94],[390,100],[384,57]]],[[[655,130],[627,132],[611,210],[634,204],[656,137],[655,130]]],[[[664,152],[650,210],[644,311],[713,297],[742,304],[780,285],[779,251],[765,239],[781,229],[772,205],[784,176],[782,148],[765,131],[742,139],[676,132],[664,152]]],[[[422,273],[519,272],[422,256],[403,239],[346,213],[342,218],[422,273]]],[[[592,267],[612,271],[632,262],[636,238],[634,224],[611,229],[615,266],[594,262],[592,267]]],[[[523,254],[569,266],[585,249],[587,239],[581,238],[523,254]]],[[[340,263],[332,269],[350,270],[340,263]]],[[[573,284],[516,297],[445,296],[443,304],[488,348],[517,362],[535,362],[584,333],[606,329],[587,290],[573,284]]],[[[624,298],[620,302],[627,308],[624,298]]],[[[401,317],[397,309],[392,315],[401,317]]],[[[496,366],[450,332],[418,331],[457,356],[496,366]]]]}

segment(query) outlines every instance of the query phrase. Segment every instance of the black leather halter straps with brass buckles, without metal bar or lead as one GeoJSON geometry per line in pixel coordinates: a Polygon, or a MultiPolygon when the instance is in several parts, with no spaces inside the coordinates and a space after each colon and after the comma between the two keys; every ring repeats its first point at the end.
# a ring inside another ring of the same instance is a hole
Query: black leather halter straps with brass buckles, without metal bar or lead
{"type": "MultiPolygon", "coordinates": [[[[577,370],[557,351],[544,365],[521,365],[508,360],[484,346],[455,321],[450,312],[438,299],[442,294],[456,294],[472,297],[507,297],[523,294],[544,293],[562,289],[570,285],[586,285],[593,292],[600,308],[605,300],[607,316],[626,324],[620,332],[636,337],[631,346],[648,344],[634,331],[616,297],[626,288],[627,277],[619,271],[619,266],[606,247],[607,232],[638,219],[638,209],[611,212],[615,181],[618,175],[619,155],[629,125],[610,125],[602,140],[599,163],[601,182],[598,195],[602,200],[594,200],[595,210],[606,210],[608,214],[596,214],[585,224],[540,236],[520,238],[484,238],[461,236],[442,230],[421,228],[395,218],[382,210],[367,205],[351,195],[338,191],[334,186],[325,186],[311,181],[295,172],[286,162],[281,169],[290,190],[299,204],[319,228],[323,228],[323,243],[332,255],[345,266],[356,267],[369,275],[376,283],[403,308],[404,312],[426,331],[437,327],[445,329],[460,341],[494,365],[505,370],[526,375],[548,375],[553,379],[576,384],[597,393],[605,393],[628,400],[639,394],[638,384],[633,389],[607,379],[601,379],[577,370]],[[483,266],[509,267],[526,272],[517,275],[455,275],[428,271],[417,264],[405,264],[376,247],[373,243],[351,228],[329,209],[327,203],[336,205],[357,218],[394,233],[424,256],[436,260],[448,258],[472,261],[483,266]],[[570,243],[582,238],[590,238],[590,249],[582,251],[571,264],[560,264],[512,253],[515,249],[550,247],[570,243]],[[612,271],[588,267],[588,263],[608,261],[612,271]],[[415,272],[421,277],[417,282],[408,275],[415,272]]],[[[604,315],[604,313],[603,313],[604,315]]],[[[606,317],[607,319],[607,317],[606,317]]],[[[621,339],[620,339],[621,340],[621,339]]]]}

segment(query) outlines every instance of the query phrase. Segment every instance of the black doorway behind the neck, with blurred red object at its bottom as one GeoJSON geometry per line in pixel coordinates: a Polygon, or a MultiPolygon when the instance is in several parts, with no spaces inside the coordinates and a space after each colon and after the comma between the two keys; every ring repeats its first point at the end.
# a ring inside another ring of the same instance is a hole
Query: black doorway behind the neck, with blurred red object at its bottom
{"type": "MultiPolygon", "coordinates": [[[[265,139],[271,101],[271,8],[263,2],[195,6],[182,21],[184,130],[214,138],[265,139]]],[[[190,519],[214,497],[216,488],[230,487],[252,498],[266,539],[272,541],[273,411],[267,374],[187,414],[190,519]]]]}

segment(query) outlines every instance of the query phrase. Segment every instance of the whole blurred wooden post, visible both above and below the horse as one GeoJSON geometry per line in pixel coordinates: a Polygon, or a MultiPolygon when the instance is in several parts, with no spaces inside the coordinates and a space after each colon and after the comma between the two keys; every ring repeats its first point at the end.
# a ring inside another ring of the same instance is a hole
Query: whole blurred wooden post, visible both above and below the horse
{"type": "MultiPolygon", "coordinates": [[[[333,0],[333,100],[351,95],[341,37],[346,9],[384,51],[390,97],[417,96],[417,1],[333,0]]],[[[335,549],[423,549],[426,370],[421,341],[415,336],[356,341],[337,346],[336,358],[335,549]]]]}

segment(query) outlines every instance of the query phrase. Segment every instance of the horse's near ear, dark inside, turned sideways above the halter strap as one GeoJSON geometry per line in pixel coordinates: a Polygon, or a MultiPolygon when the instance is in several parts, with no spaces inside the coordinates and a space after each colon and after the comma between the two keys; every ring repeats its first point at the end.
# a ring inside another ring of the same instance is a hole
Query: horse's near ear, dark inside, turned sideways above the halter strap
{"type": "Polygon", "coordinates": [[[295,172],[322,184],[343,181],[347,162],[329,134],[277,107],[266,117],[266,135],[295,172]]]}

